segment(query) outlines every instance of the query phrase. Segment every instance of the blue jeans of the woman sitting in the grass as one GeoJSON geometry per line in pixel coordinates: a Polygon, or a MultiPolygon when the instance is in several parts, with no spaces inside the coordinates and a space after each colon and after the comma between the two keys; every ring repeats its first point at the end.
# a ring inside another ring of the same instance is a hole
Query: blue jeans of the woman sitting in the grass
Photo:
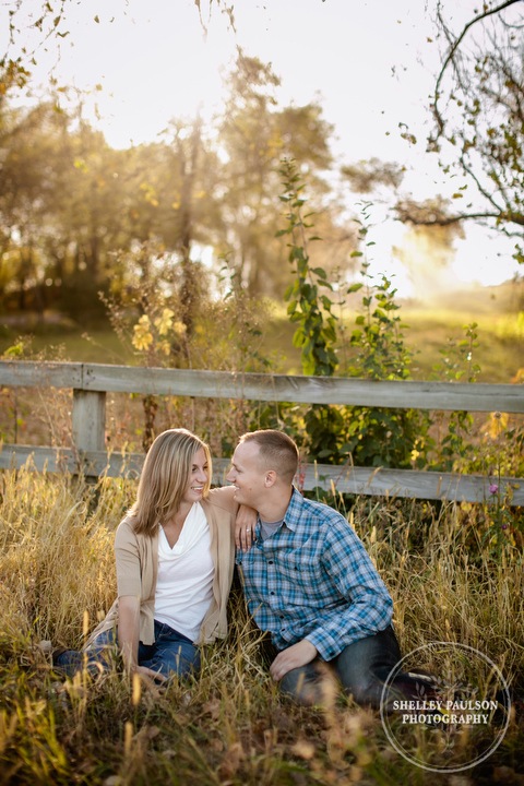
{"type": "MultiPolygon", "coordinates": [[[[85,650],[66,650],[53,656],[53,666],[72,677],[82,668],[98,674],[118,658],[117,630],[100,633],[85,650]]],[[[139,666],[146,666],[164,677],[188,677],[200,669],[200,650],[165,622],[155,620],[154,644],[139,643],[139,666]]]]}

